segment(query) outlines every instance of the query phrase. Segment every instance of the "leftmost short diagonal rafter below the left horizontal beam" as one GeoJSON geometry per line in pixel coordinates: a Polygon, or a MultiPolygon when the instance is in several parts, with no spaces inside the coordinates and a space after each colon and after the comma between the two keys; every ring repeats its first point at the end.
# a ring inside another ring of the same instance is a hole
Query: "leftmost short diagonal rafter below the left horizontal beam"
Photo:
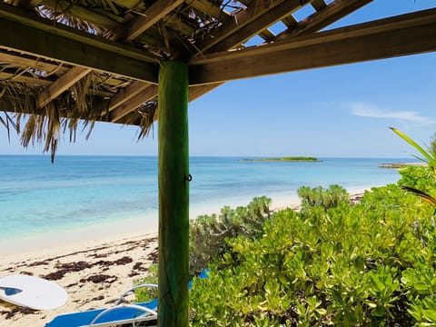
{"type": "Polygon", "coordinates": [[[80,81],[86,74],[91,72],[90,68],[74,67],[67,73],[63,74],[57,79],[56,82],[48,86],[36,98],[36,106],[38,108],[45,107],[54,100],[58,95],[62,94],[65,90],[71,87],[76,82],[80,81]]]}

